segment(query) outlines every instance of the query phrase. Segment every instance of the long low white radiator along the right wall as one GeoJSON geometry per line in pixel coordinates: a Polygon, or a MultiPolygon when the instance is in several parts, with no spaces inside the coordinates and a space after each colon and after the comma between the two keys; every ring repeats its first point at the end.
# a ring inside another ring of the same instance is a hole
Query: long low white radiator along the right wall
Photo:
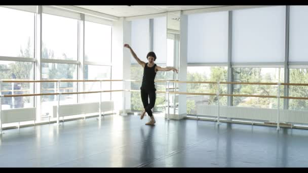
{"type": "MultiPolygon", "coordinates": [[[[197,104],[197,115],[217,117],[216,105],[197,104]]],[[[219,116],[251,120],[277,121],[277,109],[219,106],[219,116]]],[[[308,123],[308,111],[280,110],[280,122],[308,123]]]]}

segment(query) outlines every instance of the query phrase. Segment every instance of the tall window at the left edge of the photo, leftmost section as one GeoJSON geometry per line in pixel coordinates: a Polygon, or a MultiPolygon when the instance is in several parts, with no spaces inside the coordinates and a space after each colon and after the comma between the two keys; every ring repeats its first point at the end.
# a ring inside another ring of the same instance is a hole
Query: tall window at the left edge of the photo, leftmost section
{"type": "MultiPolygon", "coordinates": [[[[0,80],[33,80],[34,13],[0,7],[0,16],[0,57],[3,58],[0,60],[0,80]]],[[[2,83],[3,95],[33,92],[33,83],[2,83]]],[[[2,109],[34,106],[34,97],[7,97],[1,100],[2,109]]]]}

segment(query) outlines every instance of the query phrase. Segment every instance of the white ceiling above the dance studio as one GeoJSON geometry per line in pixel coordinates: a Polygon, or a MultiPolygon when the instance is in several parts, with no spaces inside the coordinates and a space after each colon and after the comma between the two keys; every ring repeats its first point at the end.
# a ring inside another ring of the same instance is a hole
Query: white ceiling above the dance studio
{"type": "Polygon", "coordinates": [[[221,6],[75,6],[115,17],[133,17],[179,10],[195,10],[221,6]]]}

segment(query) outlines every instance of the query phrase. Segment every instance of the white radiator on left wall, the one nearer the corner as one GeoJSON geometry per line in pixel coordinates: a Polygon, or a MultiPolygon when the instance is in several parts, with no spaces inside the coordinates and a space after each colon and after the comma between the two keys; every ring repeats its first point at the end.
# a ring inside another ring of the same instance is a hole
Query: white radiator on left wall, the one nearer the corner
{"type": "MultiPolygon", "coordinates": [[[[101,102],[101,111],[113,110],[113,101],[101,102]]],[[[60,117],[99,112],[99,102],[60,105],[60,117]]],[[[53,117],[57,117],[57,106],[53,106],[53,117]]]]}

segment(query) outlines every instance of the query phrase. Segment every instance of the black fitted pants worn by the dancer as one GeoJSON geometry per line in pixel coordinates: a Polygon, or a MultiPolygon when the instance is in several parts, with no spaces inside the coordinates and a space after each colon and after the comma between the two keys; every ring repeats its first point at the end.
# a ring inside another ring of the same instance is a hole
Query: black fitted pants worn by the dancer
{"type": "Polygon", "coordinates": [[[153,116],[151,109],[155,105],[156,89],[149,90],[149,91],[141,89],[141,100],[142,100],[143,107],[145,111],[147,112],[148,116],[153,116]],[[148,98],[150,100],[150,103],[148,103],[148,98]]]}

